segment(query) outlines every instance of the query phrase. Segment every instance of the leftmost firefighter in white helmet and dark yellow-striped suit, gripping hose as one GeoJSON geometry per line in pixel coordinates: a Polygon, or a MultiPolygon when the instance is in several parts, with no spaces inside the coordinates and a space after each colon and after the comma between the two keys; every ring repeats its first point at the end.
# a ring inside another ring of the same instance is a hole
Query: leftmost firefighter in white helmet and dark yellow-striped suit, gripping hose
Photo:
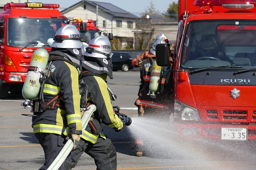
{"type": "MultiPolygon", "coordinates": [[[[81,46],[79,31],[73,25],[58,29],[51,47],[50,75],[42,90],[40,108],[34,112],[32,127],[45,152],[45,163],[40,169],[47,169],[66,143],[69,129],[74,148],[82,134],[80,94],[78,77],[81,69],[81,46]]],[[[69,169],[71,154],[59,169],[69,169]]]]}

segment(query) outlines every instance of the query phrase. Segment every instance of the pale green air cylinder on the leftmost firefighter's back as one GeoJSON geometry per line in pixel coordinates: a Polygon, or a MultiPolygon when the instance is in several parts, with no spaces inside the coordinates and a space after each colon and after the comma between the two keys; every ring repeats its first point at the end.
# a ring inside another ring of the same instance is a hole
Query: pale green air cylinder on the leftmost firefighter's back
{"type": "Polygon", "coordinates": [[[42,78],[41,71],[45,69],[49,60],[49,52],[45,48],[38,48],[34,51],[28,73],[22,88],[22,95],[25,99],[34,100],[37,98],[42,78]]]}

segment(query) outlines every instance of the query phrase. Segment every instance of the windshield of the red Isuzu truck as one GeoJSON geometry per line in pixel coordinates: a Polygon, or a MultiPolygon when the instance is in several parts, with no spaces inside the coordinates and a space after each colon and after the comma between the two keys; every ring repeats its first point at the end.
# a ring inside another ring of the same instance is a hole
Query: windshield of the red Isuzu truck
{"type": "Polygon", "coordinates": [[[256,20],[191,21],[183,36],[180,67],[253,68],[256,66],[255,37],[256,20]]]}

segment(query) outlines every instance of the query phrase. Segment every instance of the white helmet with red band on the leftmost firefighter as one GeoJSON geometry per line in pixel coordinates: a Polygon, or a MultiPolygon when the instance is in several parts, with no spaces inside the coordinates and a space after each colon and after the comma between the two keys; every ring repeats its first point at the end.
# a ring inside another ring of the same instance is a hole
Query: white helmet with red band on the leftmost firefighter
{"type": "Polygon", "coordinates": [[[51,47],[55,48],[81,48],[80,33],[73,25],[65,25],[57,30],[51,47]]]}

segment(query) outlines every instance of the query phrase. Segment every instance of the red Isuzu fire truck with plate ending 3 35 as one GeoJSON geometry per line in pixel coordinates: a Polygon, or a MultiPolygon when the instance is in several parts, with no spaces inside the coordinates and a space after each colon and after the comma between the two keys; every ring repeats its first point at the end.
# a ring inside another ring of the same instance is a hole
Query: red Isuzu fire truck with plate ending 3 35
{"type": "MultiPolygon", "coordinates": [[[[256,139],[256,3],[180,0],[174,50],[177,134],[256,139]]],[[[167,45],[156,47],[168,64],[167,45]]]]}

